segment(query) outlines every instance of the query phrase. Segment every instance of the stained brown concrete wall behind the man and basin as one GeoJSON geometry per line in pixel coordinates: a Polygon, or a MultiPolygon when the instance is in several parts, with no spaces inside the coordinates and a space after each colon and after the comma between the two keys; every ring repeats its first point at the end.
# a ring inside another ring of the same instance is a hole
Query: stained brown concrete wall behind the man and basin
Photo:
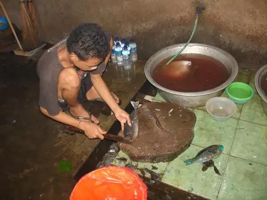
{"type": "MultiPolygon", "coordinates": [[[[20,27],[18,0],[3,3],[20,27]]],[[[185,43],[195,7],[201,4],[206,11],[191,42],[221,47],[237,60],[249,54],[255,59],[249,68],[267,61],[267,0],[35,0],[35,4],[44,41],[55,43],[79,23],[97,22],[114,35],[135,38],[142,59],[165,46],[185,43]]]]}

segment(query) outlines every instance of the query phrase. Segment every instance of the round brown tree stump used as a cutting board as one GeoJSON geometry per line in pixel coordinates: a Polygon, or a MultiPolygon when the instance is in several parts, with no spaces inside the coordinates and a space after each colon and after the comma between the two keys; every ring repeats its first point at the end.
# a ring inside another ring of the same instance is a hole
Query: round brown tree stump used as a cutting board
{"type": "MultiPolygon", "coordinates": [[[[137,162],[169,162],[186,150],[194,138],[196,115],[174,103],[149,102],[137,108],[138,136],[120,149],[137,162]]],[[[122,132],[119,133],[122,136],[122,132]]]]}

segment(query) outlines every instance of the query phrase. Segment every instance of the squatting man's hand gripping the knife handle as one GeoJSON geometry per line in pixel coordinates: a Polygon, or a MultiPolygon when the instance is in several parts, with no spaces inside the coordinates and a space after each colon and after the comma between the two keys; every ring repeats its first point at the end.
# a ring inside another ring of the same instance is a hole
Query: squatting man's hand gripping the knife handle
{"type": "Polygon", "coordinates": [[[81,121],[79,128],[81,128],[84,131],[85,135],[90,139],[93,138],[104,139],[103,134],[106,133],[106,131],[101,129],[100,126],[95,123],[88,123],[81,121]]]}

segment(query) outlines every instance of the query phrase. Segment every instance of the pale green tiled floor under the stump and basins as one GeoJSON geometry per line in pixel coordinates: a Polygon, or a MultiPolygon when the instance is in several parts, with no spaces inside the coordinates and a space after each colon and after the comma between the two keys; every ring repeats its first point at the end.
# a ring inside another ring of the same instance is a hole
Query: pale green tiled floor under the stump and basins
{"type": "MultiPolygon", "coordinates": [[[[255,96],[245,105],[238,105],[231,119],[217,122],[205,108],[194,109],[197,121],[192,145],[172,162],[139,163],[139,167],[156,166],[158,169],[154,171],[164,173],[163,182],[212,200],[267,199],[267,116],[255,91],[254,77],[253,72],[239,70],[235,81],[249,83],[255,96]],[[223,154],[214,160],[221,176],[212,168],[203,172],[200,163],[185,166],[184,160],[211,144],[225,147],[223,154]]],[[[157,95],[153,101],[165,100],[157,95]]],[[[118,157],[127,155],[120,152],[118,157]]]]}

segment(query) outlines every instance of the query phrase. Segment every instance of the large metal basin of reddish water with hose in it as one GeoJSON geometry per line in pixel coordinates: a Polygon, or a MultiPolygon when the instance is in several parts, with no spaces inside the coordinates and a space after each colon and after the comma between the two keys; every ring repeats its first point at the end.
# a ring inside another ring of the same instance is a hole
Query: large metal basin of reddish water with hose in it
{"type": "Polygon", "coordinates": [[[230,77],[222,85],[207,91],[176,92],[169,90],[156,83],[151,77],[151,72],[159,62],[165,58],[175,55],[183,48],[184,45],[185,44],[167,46],[152,55],[145,65],[145,76],[148,81],[157,88],[160,95],[166,101],[178,103],[186,108],[202,107],[210,98],[220,96],[223,90],[234,81],[238,72],[238,64],[233,56],[220,48],[205,44],[191,43],[184,49],[183,54],[197,53],[217,59],[227,68],[230,73],[230,77]]]}

